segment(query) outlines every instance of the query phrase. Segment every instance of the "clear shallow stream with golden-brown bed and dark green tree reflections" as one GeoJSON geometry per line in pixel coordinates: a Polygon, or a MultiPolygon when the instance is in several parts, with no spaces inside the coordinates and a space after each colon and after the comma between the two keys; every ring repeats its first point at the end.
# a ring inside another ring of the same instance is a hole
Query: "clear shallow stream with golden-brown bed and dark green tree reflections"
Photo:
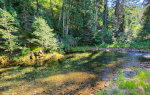
{"type": "Polygon", "coordinates": [[[137,65],[141,53],[85,52],[43,67],[0,68],[0,94],[90,95],[127,64],[137,65]]]}

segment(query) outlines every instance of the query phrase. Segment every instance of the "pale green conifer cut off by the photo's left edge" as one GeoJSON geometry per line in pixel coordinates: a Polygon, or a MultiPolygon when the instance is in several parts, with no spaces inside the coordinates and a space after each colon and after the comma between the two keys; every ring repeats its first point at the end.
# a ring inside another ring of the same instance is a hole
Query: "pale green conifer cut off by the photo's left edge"
{"type": "Polygon", "coordinates": [[[16,22],[15,17],[11,15],[6,10],[0,9],[0,39],[1,39],[1,48],[13,52],[17,49],[17,32],[18,22],[16,22]]]}

